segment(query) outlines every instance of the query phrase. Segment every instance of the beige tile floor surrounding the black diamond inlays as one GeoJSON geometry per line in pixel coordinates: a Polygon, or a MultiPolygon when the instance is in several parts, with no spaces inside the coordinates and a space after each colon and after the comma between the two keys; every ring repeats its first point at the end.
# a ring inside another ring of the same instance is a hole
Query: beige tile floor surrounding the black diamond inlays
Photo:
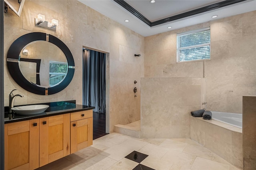
{"type": "Polygon", "coordinates": [[[191,139],[138,139],[111,133],[37,170],[240,170],[191,139]],[[140,163],[125,158],[148,155],[140,163]]]}

